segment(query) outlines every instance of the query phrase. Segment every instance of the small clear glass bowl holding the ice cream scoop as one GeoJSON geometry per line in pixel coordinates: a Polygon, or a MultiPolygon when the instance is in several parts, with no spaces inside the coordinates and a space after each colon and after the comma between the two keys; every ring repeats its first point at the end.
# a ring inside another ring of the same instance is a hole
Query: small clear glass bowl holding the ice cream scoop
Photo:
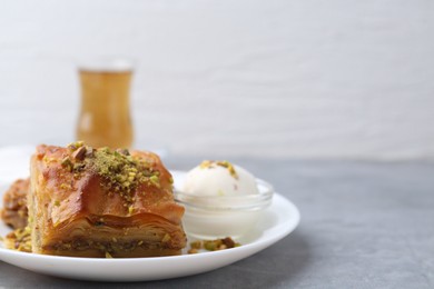
{"type": "Polygon", "coordinates": [[[274,189],[256,179],[259,193],[244,196],[197,196],[175,189],[175,200],[185,207],[187,235],[198,239],[240,238],[254,229],[272,203],[274,189]]]}

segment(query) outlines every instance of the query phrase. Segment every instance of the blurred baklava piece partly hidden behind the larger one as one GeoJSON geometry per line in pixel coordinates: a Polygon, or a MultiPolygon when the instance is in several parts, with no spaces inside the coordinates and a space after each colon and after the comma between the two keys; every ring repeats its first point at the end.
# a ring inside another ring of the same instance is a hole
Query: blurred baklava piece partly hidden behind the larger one
{"type": "Polygon", "coordinates": [[[29,191],[29,179],[18,179],[4,192],[3,209],[1,219],[13,229],[27,226],[27,192],[29,191]]]}

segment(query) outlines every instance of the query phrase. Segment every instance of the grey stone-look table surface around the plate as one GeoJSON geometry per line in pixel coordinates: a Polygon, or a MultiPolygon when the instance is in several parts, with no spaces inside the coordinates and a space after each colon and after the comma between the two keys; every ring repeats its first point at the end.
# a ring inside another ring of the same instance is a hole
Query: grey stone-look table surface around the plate
{"type": "MultiPolygon", "coordinates": [[[[168,158],[170,169],[200,159],[168,158]]],[[[0,261],[2,288],[434,288],[434,163],[235,159],[270,181],[302,222],[210,272],[132,283],[68,280],[0,261]]]]}

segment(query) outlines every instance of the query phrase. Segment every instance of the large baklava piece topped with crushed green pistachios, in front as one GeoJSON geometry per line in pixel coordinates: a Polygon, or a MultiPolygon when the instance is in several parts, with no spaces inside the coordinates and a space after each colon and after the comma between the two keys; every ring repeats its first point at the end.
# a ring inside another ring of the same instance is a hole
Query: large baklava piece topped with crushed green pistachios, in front
{"type": "Polygon", "coordinates": [[[28,198],[32,251],[72,257],[160,257],[186,245],[184,208],[151,152],[39,146],[28,198]]]}

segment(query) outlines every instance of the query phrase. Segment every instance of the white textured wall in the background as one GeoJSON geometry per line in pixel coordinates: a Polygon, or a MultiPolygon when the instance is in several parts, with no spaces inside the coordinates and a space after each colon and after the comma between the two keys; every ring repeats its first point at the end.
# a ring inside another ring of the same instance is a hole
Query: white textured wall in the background
{"type": "Polygon", "coordinates": [[[139,60],[140,148],[434,159],[430,0],[1,0],[0,146],[71,141],[98,54],[139,60]]]}

